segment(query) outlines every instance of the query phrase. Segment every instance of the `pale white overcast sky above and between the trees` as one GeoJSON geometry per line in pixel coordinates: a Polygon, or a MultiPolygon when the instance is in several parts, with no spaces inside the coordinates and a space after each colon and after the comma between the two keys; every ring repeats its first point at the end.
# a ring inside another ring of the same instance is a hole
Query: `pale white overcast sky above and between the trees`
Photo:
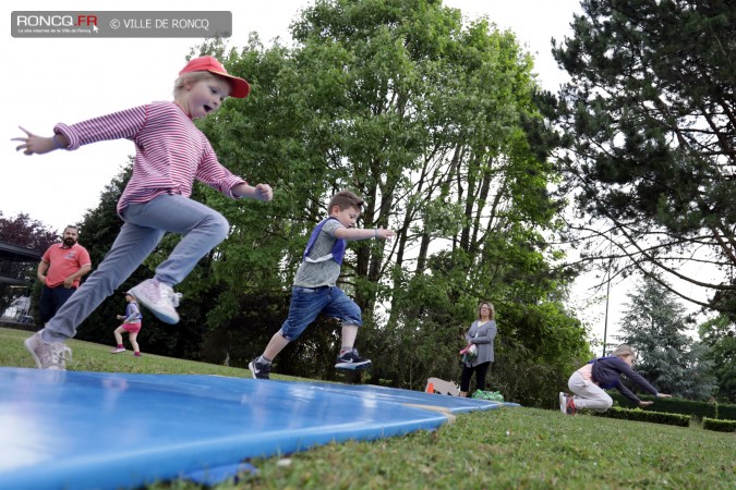
{"type": "MultiPolygon", "coordinates": [[[[257,32],[266,45],[275,37],[289,44],[288,26],[307,0],[219,0],[212,10],[232,13],[229,45],[242,47],[250,33],[257,32]]],[[[184,57],[197,38],[24,38],[12,37],[13,11],[99,11],[99,1],[24,1],[13,3],[5,17],[0,53],[5,60],[5,89],[1,90],[7,144],[0,163],[0,210],[5,217],[24,212],[61,231],[82,220],[95,208],[105,186],[133,154],[130,142],[102,142],[76,151],[53,151],[27,157],[15,151],[12,137],[23,136],[19,126],[50,135],[59,123],[75,123],[97,115],[141,106],[153,100],[171,100],[171,87],[184,57]]],[[[551,39],[571,34],[572,14],[579,0],[445,0],[470,20],[487,15],[500,29],[512,30],[535,62],[540,85],[556,91],[568,81],[551,54],[551,39]]],[[[131,0],[124,11],[203,11],[201,1],[131,0]],[[171,8],[176,5],[176,8],[171,8]]],[[[105,9],[113,10],[113,9],[105,9]]],[[[114,9],[119,10],[119,9],[114,9]]],[[[592,281],[576,286],[577,296],[590,295],[592,281]]],[[[611,295],[608,329],[617,322],[625,294],[611,295]]],[[[593,334],[603,336],[604,307],[587,309],[593,334]]]]}

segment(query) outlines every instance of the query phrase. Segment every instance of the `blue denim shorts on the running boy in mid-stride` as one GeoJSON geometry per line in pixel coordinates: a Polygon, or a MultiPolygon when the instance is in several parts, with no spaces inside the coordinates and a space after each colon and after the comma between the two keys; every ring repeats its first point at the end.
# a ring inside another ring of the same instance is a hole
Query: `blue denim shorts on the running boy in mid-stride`
{"type": "Polygon", "coordinates": [[[339,287],[293,286],[289,317],[281,326],[281,335],[288,341],[295,340],[321,313],[337,318],[343,327],[363,324],[360,308],[339,287]]]}

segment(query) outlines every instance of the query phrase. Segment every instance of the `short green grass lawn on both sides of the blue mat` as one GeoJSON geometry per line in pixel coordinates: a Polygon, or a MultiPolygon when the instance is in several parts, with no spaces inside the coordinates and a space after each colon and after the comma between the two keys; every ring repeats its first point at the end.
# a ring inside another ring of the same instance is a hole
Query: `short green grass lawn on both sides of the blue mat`
{"type": "MultiPolygon", "coordinates": [[[[33,367],[27,332],[0,329],[0,364],[33,367]]],[[[72,341],[70,369],[210,373],[248,370],[132,353],[72,341]]],[[[286,379],[286,378],[281,378],[286,379]]],[[[293,378],[292,378],[293,379],[293,378]]],[[[556,396],[556,393],[551,394],[556,396]]],[[[508,407],[457,417],[434,432],[315,448],[251,463],[226,489],[736,489],[736,437],[557,411],[508,407]]],[[[198,489],[184,481],[149,489],[198,489]]]]}

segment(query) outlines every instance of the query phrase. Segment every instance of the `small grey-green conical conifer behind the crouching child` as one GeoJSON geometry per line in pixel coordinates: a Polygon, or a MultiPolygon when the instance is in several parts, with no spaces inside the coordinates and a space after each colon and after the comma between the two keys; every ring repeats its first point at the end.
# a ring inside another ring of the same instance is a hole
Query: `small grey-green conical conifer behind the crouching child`
{"type": "Polygon", "coordinates": [[[687,335],[685,308],[660,281],[645,278],[628,295],[620,340],[639,354],[637,371],[664,393],[707,400],[716,389],[708,347],[687,335]]]}

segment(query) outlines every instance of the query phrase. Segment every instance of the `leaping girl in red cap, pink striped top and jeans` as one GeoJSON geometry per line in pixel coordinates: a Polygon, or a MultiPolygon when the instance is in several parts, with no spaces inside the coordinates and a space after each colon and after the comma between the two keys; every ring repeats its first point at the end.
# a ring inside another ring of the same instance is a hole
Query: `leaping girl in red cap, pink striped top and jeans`
{"type": "Polygon", "coordinates": [[[135,144],[133,174],[118,201],[123,226],[105,260],[57,311],[45,328],[25,341],[40,369],[65,369],[71,350],[64,341],[89,314],[148,257],[166,232],[181,241],[156,268],[154,278],[131,290],[138,302],[167,323],[177,323],[180,294],[173,286],[196,262],[226,238],[227,220],[217,211],[190,199],[194,180],[228,197],[268,201],[268,184],[251,186],[217,160],[207,137],[193,120],[216,112],[228,96],[243,98],[250,86],[229,75],[212,57],[191,60],[174,82],[173,101],[152,102],[76,124],[57,124],[50,137],[21,130],[16,147],[25,155],[56,149],[75,150],[106,139],[135,144]]]}

